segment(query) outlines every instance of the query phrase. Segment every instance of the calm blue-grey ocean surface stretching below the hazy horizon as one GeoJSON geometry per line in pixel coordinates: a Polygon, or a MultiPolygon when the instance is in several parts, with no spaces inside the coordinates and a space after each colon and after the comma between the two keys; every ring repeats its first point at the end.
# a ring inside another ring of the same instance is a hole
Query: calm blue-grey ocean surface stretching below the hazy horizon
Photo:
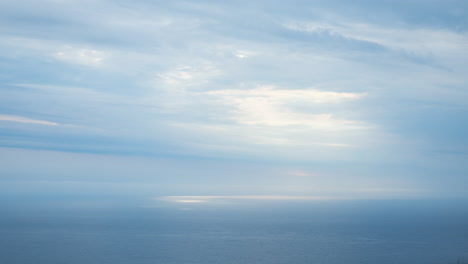
{"type": "Polygon", "coordinates": [[[6,201],[0,210],[2,264],[446,264],[459,259],[468,260],[468,209],[453,201],[155,206],[6,201]]]}

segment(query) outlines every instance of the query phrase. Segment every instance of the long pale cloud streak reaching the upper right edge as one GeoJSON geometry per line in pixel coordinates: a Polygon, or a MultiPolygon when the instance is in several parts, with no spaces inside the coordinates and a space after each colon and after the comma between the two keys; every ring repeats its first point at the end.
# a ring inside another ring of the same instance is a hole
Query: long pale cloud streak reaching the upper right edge
{"type": "Polygon", "coordinates": [[[344,39],[373,43],[393,52],[396,56],[413,62],[428,65],[446,64],[458,60],[453,55],[463,57],[464,43],[468,36],[447,29],[431,28],[395,28],[359,21],[324,21],[292,20],[283,23],[286,29],[313,34],[339,36],[344,39]],[[424,42],[421,42],[424,40],[424,42]],[[436,63],[435,56],[442,61],[436,63]]]}

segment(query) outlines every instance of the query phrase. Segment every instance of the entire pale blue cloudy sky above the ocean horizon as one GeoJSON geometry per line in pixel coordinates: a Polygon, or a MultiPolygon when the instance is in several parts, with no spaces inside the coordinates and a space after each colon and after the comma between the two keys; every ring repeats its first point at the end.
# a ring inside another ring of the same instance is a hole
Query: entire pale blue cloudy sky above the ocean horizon
{"type": "Polygon", "coordinates": [[[3,0],[0,193],[465,199],[467,47],[467,1],[3,0]]]}

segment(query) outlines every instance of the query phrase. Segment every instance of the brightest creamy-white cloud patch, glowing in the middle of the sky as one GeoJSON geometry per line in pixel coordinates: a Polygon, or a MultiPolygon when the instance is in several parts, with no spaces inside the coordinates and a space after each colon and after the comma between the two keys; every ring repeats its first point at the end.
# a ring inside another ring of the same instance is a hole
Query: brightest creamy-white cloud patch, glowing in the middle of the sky
{"type": "Polygon", "coordinates": [[[260,86],[251,90],[217,90],[207,94],[221,98],[223,104],[235,108],[231,118],[239,124],[263,126],[307,126],[315,129],[362,128],[363,124],[341,120],[332,113],[302,113],[289,104],[336,104],[357,100],[365,94],[326,92],[315,89],[285,90],[274,86],[260,86]]]}

